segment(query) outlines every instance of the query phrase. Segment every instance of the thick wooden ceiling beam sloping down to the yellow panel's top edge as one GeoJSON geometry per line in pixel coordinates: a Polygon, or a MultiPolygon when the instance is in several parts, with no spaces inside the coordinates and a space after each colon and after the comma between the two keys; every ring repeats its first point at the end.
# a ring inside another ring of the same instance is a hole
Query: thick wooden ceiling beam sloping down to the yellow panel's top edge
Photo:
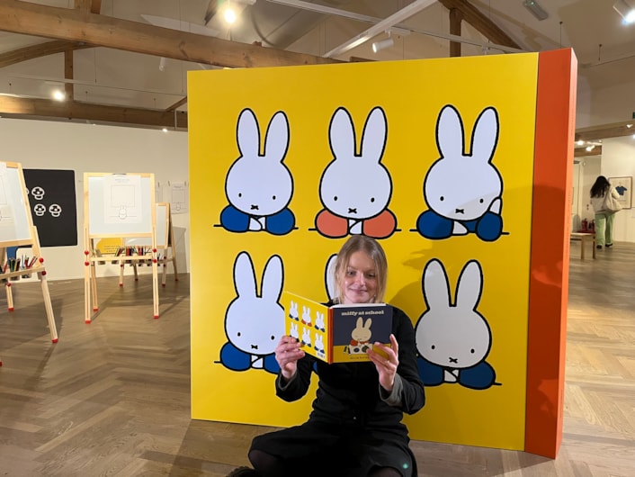
{"type": "Polygon", "coordinates": [[[282,49],[221,40],[130,22],[80,9],[0,0],[0,30],[219,67],[281,67],[341,63],[282,49]]]}

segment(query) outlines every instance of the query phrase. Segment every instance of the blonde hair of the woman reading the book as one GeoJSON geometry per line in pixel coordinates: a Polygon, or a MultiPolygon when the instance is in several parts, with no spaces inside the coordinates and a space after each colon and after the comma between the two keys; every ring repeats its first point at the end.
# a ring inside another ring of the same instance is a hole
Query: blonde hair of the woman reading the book
{"type": "Polygon", "coordinates": [[[335,302],[344,303],[344,275],[346,267],[351,260],[351,256],[355,252],[364,252],[371,257],[375,264],[375,273],[377,275],[377,294],[373,297],[372,302],[380,303],[384,301],[386,286],[388,283],[388,260],[384,249],[380,243],[374,238],[365,235],[353,235],[344,242],[342,248],[337,253],[335,266],[333,267],[333,283],[335,284],[335,302]]]}

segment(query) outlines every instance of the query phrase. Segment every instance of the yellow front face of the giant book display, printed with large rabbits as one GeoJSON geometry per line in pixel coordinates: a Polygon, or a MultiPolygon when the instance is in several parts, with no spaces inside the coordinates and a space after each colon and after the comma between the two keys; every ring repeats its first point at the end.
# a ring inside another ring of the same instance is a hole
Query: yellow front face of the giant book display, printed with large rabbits
{"type": "Polygon", "coordinates": [[[326,301],[328,258],[364,233],[416,326],[411,437],[525,449],[539,63],[190,73],[193,419],[307,419],[317,376],[301,401],[274,394],[279,295],[326,301]],[[431,353],[437,337],[458,361],[431,353]]]}

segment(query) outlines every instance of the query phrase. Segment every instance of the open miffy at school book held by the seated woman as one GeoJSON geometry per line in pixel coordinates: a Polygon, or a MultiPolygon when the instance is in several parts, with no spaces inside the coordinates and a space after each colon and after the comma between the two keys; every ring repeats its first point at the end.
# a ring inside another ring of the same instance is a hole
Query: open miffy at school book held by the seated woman
{"type": "Polygon", "coordinates": [[[281,302],[286,334],[328,364],[370,361],[367,351],[374,343],[390,345],[392,307],[386,303],[329,307],[289,292],[282,293],[281,302]]]}

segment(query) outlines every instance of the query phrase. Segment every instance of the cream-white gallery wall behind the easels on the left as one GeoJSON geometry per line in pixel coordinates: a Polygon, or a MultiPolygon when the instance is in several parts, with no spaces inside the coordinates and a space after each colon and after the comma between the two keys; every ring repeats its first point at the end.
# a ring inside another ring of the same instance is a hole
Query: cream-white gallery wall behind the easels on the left
{"type": "MultiPolygon", "coordinates": [[[[187,132],[58,121],[0,119],[0,161],[24,169],[75,171],[76,247],[42,247],[49,280],[84,277],[84,173],[154,173],[157,183],[187,182],[187,132]]],[[[157,187],[157,184],[155,184],[157,187]]],[[[161,199],[157,187],[157,200],[161,199]]],[[[189,270],[189,213],[173,214],[179,273],[189,270]]],[[[126,275],[132,274],[130,266],[126,275]]],[[[140,267],[139,273],[149,273],[140,267]]],[[[172,266],[168,267],[172,273],[172,266]]],[[[118,266],[97,266],[98,276],[119,275],[118,266]]]]}

